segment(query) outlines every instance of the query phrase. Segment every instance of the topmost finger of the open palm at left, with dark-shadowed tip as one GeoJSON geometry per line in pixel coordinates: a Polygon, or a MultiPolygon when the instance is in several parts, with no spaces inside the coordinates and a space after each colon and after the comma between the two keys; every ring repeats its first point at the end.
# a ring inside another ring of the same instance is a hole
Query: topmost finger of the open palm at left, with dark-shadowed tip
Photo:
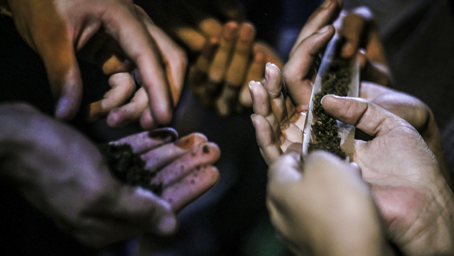
{"type": "Polygon", "coordinates": [[[134,134],[120,140],[112,141],[109,144],[128,144],[134,154],[143,154],[154,148],[160,147],[178,138],[178,134],[172,128],[156,129],[150,132],[134,134]]]}

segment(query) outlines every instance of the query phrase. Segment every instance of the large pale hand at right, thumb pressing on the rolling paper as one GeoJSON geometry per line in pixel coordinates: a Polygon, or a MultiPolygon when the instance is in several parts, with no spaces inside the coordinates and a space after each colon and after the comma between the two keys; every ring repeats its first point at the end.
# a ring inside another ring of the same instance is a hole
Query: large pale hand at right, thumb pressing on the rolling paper
{"type": "Polygon", "coordinates": [[[322,105],[374,137],[356,141],[353,161],[380,208],[388,238],[405,255],[452,254],[454,196],[419,133],[365,100],[325,96],[322,105]]]}

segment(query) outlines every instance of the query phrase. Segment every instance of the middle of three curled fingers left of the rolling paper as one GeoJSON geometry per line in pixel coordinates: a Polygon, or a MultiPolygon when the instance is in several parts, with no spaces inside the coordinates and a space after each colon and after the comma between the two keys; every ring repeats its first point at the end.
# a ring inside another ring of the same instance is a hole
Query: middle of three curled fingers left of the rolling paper
{"type": "Polygon", "coordinates": [[[272,111],[269,94],[265,87],[260,82],[251,81],[249,90],[252,97],[252,110],[256,115],[263,116],[268,121],[274,138],[281,138],[280,122],[272,111]]]}

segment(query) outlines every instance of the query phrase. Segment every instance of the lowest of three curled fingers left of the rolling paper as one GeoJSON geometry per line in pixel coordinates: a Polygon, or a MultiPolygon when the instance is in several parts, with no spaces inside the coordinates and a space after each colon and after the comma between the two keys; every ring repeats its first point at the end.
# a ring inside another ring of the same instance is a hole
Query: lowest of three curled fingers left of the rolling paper
{"type": "Polygon", "coordinates": [[[270,165],[282,155],[281,147],[273,134],[271,125],[265,117],[257,114],[251,116],[255,129],[255,138],[265,162],[270,165]]]}

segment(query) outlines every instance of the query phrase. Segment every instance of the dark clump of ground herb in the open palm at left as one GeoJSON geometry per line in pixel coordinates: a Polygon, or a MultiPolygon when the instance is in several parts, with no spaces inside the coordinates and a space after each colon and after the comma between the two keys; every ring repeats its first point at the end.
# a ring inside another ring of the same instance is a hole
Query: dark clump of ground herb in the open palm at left
{"type": "Polygon", "coordinates": [[[145,162],[140,155],[132,152],[129,144],[102,144],[100,150],[117,178],[129,185],[144,187],[161,196],[163,184],[151,183],[151,179],[156,173],[144,168],[145,162]]]}

